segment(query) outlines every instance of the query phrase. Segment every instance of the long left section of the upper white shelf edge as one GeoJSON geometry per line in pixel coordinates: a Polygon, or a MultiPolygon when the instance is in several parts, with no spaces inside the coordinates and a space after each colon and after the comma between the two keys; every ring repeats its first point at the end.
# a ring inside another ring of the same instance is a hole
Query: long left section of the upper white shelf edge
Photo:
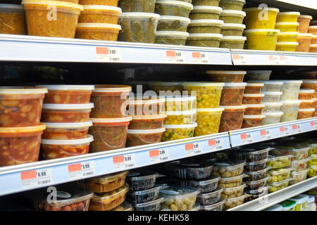
{"type": "Polygon", "coordinates": [[[229,49],[0,34],[0,61],[232,65],[229,49]]]}

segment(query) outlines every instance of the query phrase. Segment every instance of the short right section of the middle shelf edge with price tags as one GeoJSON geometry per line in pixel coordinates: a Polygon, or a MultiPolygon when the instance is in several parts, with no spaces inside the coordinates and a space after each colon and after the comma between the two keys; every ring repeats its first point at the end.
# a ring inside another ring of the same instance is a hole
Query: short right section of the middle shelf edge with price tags
{"type": "Polygon", "coordinates": [[[283,136],[301,134],[317,129],[317,117],[278,124],[250,127],[229,131],[232,147],[244,146],[250,143],[278,139],[283,136]]]}

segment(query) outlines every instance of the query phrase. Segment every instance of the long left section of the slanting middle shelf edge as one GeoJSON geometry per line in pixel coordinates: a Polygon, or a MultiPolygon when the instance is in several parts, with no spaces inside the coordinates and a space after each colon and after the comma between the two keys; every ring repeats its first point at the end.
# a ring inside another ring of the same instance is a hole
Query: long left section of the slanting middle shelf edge
{"type": "Polygon", "coordinates": [[[230,148],[228,132],[0,167],[0,196],[230,148]]]}

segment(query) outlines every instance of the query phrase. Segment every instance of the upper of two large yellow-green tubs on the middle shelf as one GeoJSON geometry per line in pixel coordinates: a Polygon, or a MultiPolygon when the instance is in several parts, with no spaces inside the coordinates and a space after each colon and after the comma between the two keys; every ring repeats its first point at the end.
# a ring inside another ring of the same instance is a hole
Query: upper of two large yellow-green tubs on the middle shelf
{"type": "Polygon", "coordinates": [[[224,85],[217,82],[182,83],[189,95],[197,97],[197,108],[218,108],[224,85]]]}

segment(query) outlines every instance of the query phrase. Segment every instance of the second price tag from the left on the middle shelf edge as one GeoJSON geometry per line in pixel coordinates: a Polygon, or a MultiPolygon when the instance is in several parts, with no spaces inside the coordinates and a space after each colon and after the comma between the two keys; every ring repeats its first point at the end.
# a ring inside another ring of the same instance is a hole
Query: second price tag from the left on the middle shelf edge
{"type": "Polygon", "coordinates": [[[68,165],[68,174],[70,179],[84,179],[87,176],[92,176],[96,174],[94,161],[68,165]]]}

